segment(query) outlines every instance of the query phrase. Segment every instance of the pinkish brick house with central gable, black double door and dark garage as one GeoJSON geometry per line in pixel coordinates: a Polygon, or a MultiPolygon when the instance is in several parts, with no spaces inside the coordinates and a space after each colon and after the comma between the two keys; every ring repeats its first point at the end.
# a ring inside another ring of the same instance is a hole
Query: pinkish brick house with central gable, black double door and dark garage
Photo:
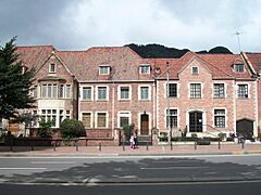
{"type": "Polygon", "coordinates": [[[258,135],[256,79],[240,55],[188,52],[169,64],[169,100],[166,67],[157,78],[158,129],[169,133],[170,119],[173,135],[258,135]]]}

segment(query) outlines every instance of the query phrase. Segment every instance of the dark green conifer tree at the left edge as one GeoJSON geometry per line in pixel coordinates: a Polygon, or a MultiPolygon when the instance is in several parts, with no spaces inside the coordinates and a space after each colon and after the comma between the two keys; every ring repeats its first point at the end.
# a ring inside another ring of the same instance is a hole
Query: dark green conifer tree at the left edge
{"type": "Polygon", "coordinates": [[[11,39],[0,48],[0,118],[17,118],[17,109],[30,108],[34,99],[29,95],[34,69],[23,72],[20,55],[11,39]]]}

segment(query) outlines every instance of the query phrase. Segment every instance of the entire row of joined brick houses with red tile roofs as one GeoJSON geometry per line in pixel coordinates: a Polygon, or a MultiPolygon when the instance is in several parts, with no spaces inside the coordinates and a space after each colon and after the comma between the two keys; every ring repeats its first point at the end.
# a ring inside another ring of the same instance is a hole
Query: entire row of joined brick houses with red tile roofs
{"type": "Polygon", "coordinates": [[[17,52],[25,68],[36,69],[32,113],[54,120],[53,128],[77,118],[88,138],[117,140],[119,129],[130,123],[139,135],[157,128],[173,136],[185,131],[258,136],[261,87],[244,54],[142,58],[128,47],[18,47],[17,52]]]}

